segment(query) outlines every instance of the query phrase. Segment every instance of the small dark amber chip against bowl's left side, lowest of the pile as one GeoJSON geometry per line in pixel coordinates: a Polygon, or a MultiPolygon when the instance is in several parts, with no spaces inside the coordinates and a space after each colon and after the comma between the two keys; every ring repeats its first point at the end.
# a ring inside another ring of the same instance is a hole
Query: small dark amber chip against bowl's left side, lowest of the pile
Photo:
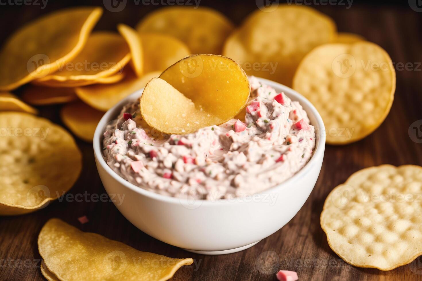
{"type": "Polygon", "coordinates": [[[60,110],[63,123],[73,134],[86,142],[92,142],[95,128],[103,115],[104,112],[95,110],[83,102],[66,104],[60,110]]]}

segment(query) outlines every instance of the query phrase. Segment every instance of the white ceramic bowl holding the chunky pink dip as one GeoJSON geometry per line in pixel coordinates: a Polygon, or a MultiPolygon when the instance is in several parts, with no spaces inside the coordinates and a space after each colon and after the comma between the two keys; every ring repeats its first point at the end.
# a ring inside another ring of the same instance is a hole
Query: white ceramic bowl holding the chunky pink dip
{"type": "Polygon", "coordinates": [[[201,254],[228,254],[249,248],[283,227],[303,206],[317,181],[325,150],[322,118],[315,107],[296,91],[259,78],[299,101],[317,133],[311,160],[280,185],[249,198],[221,201],[188,201],[137,187],[116,174],[102,155],[103,131],[116,119],[123,105],[141,96],[142,90],[108,110],[94,135],[94,154],[101,181],[110,196],[124,195],[117,209],[133,225],[165,243],[201,254]]]}

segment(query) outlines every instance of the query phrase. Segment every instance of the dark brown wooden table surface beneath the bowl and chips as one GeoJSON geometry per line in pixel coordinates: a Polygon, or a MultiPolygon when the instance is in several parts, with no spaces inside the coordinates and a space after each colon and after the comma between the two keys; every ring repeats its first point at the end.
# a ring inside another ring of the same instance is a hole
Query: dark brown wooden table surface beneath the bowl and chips
{"type": "MultiPolygon", "coordinates": [[[[151,5],[131,7],[130,2],[122,12],[106,11],[96,29],[114,29],[120,22],[134,26],[144,14],[157,8],[151,5]]],[[[254,1],[249,2],[203,0],[201,5],[215,7],[239,24],[256,8],[254,1]]],[[[173,280],[275,280],[279,269],[297,271],[300,280],[422,280],[422,257],[387,272],[345,263],[330,249],[319,225],[326,196],[353,172],[384,163],[422,165],[422,145],[413,142],[408,135],[410,124],[422,119],[422,13],[412,10],[407,1],[404,2],[406,5],[398,7],[360,3],[349,9],[315,6],[333,17],[340,31],[363,35],[385,48],[393,62],[411,63],[412,67],[411,70],[399,70],[399,64],[396,67],[395,101],[387,119],[373,134],[351,145],[327,145],[317,185],[302,209],[281,230],[242,252],[206,256],[185,252],[146,235],[128,222],[111,202],[54,201],[32,214],[0,217],[0,280],[43,280],[37,236],[51,217],[141,251],[195,259],[194,266],[181,268],[173,280]],[[84,215],[89,222],[81,225],[77,218],[84,215]],[[22,265],[19,260],[27,263],[22,265]]],[[[82,3],[73,1],[72,5],[82,3]]],[[[102,6],[102,1],[96,4],[102,6]]],[[[1,6],[2,42],[16,27],[65,6],[63,2],[53,0],[45,9],[39,6],[1,6]]],[[[57,106],[40,109],[42,116],[61,124],[57,106]]],[[[105,193],[95,167],[92,145],[77,142],[84,155],[84,166],[81,177],[69,192],[73,195],[105,193]]]]}

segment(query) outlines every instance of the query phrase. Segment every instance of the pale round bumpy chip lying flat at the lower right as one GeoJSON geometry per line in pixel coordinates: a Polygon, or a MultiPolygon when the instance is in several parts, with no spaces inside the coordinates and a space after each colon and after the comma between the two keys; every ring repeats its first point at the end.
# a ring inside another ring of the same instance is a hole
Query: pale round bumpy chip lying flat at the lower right
{"type": "Polygon", "coordinates": [[[325,200],[321,227],[345,262],[392,270],[422,254],[422,167],[357,171],[325,200]]]}

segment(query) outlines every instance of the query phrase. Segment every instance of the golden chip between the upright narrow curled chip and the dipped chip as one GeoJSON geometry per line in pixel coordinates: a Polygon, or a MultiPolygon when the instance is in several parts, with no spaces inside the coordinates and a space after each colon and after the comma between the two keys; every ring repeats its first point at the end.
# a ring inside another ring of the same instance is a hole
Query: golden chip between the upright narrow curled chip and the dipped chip
{"type": "Polygon", "coordinates": [[[190,51],[180,40],[160,33],[141,33],[144,72],[163,71],[190,51]]]}

